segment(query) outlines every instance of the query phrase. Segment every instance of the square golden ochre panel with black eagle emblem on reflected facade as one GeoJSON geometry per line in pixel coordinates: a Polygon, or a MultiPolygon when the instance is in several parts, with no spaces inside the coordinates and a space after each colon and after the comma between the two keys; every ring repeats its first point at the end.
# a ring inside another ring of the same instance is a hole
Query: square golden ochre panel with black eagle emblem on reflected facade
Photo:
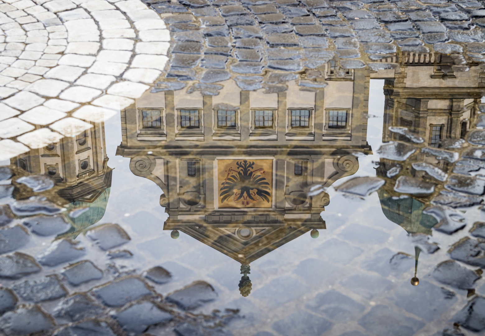
{"type": "Polygon", "coordinates": [[[271,208],[273,160],[217,160],[219,208],[271,208]]]}

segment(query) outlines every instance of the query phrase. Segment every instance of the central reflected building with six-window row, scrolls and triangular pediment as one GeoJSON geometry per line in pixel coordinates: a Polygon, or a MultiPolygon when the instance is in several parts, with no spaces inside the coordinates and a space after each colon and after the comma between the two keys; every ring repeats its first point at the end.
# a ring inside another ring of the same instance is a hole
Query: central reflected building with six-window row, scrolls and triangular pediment
{"type": "Polygon", "coordinates": [[[372,152],[370,72],[339,72],[329,63],[277,93],[244,91],[234,80],[218,83],[217,95],[193,87],[146,93],[122,111],[117,155],[131,158],[133,174],[162,189],[165,230],[230,256],[246,274],[245,265],[324,229],[320,214],[330,199],[311,188],[325,190],[353,175],[358,155],[352,153],[372,152]],[[298,85],[316,75],[324,88],[298,85]]]}

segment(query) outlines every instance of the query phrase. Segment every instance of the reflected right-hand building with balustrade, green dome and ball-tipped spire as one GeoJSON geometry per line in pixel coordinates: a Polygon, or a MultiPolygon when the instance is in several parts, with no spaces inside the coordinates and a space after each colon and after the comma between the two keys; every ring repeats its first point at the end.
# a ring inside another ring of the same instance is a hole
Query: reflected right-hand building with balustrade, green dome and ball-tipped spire
{"type": "MultiPolygon", "coordinates": [[[[382,141],[413,144],[404,135],[389,129],[404,127],[422,138],[420,146],[444,150],[460,148],[471,126],[470,121],[474,120],[479,111],[480,98],[484,96],[485,83],[481,82],[485,75],[483,69],[478,64],[467,63],[462,55],[403,51],[399,54],[399,60],[396,69],[371,73],[371,78],[385,79],[382,141]]],[[[437,220],[423,213],[423,210],[443,190],[443,182],[424,171],[415,170],[412,162],[430,163],[446,174],[452,173],[452,162],[420,151],[399,163],[381,159],[376,174],[391,179],[391,183],[386,183],[378,191],[382,211],[408,234],[432,235],[432,227],[437,220]],[[388,176],[388,171],[394,167],[399,167],[400,172],[388,176]],[[399,176],[412,176],[433,183],[436,185],[435,191],[402,197],[402,193],[393,189],[399,176]]],[[[419,283],[416,272],[420,251],[420,247],[415,246],[415,277],[411,279],[413,285],[419,283]]]]}

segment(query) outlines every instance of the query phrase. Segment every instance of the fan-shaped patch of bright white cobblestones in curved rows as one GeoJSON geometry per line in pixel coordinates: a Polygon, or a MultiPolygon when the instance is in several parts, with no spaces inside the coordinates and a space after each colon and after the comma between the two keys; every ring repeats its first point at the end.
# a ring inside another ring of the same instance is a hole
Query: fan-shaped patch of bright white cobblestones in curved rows
{"type": "Polygon", "coordinates": [[[0,160],[130,105],[161,75],[170,46],[139,0],[0,1],[0,29],[0,160]]]}

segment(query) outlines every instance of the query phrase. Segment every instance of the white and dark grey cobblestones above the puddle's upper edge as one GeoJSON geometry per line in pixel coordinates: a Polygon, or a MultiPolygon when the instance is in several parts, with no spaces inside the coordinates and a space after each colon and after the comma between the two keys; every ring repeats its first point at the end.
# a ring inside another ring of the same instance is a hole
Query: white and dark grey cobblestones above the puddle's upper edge
{"type": "Polygon", "coordinates": [[[232,77],[244,89],[278,92],[295,76],[254,75],[313,69],[335,55],[342,68],[392,68],[396,48],[410,57],[451,53],[464,68],[465,59],[481,62],[485,53],[485,9],[478,1],[21,0],[0,6],[2,158],[72,136],[89,127],[82,120],[106,119],[161,75],[182,82],[162,80],[152,90],[200,80],[191,90],[216,94],[221,86],[213,83],[232,77]]]}

